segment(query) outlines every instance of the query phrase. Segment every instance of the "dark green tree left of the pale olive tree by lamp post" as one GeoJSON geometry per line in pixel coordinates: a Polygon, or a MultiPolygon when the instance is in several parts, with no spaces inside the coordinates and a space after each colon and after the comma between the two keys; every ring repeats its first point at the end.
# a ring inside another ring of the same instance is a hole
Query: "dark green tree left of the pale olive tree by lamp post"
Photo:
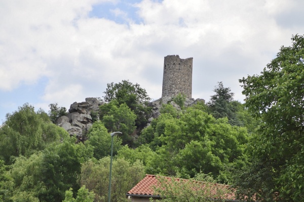
{"type": "Polygon", "coordinates": [[[49,146],[43,153],[41,180],[47,187],[40,193],[45,201],[61,201],[69,187],[78,190],[81,164],[92,158],[91,147],[75,144],[75,138],[66,138],[60,144],[49,146]]]}

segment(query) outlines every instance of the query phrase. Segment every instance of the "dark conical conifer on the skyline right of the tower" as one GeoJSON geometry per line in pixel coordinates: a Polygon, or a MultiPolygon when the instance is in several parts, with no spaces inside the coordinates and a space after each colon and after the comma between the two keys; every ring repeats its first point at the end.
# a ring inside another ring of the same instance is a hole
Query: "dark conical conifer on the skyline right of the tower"
{"type": "Polygon", "coordinates": [[[225,88],[222,82],[218,82],[213,91],[216,94],[212,95],[207,103],[210,114],[216,119],[227,117],[230,124],[241,126],[242,124],[236,116],[238,106],[241,104],[234,101],[234,93],[231,92],[231,89],[225,88]]]}

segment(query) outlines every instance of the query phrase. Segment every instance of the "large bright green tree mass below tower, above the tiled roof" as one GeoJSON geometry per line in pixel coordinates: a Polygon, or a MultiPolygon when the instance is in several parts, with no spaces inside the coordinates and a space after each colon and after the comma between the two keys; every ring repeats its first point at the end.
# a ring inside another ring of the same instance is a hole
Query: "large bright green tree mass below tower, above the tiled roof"
{"type": "Polygon", "coordinates": [[[211,173],[221,182],[231,181],[226,168],[241,166],[247,143],[246,128],[231,126],[227,119],[215,120],[206,112],[187,108],[180,118],[162,114],[142,131],[142,136],[156,151],[148,158],[151,174],[194,177],[211,173]]]}

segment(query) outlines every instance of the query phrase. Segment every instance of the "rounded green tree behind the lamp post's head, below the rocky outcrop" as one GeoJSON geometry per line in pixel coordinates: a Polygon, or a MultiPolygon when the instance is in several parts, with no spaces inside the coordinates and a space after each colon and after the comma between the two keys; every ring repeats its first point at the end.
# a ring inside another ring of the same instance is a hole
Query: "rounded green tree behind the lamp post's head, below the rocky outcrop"
{"type": "MultiPolygon", "coordinates": [[[[94,157],[98,160],[110,155],[111,150],[111,136],[107,132],[101,121],[94,122],[88,133],[88,140],[86,145],[93,147],[94,157]]],[[[121,147],[121,138],[114,137],[113,139],[113,155],[117,154],[117,151],[121,147]]]]}

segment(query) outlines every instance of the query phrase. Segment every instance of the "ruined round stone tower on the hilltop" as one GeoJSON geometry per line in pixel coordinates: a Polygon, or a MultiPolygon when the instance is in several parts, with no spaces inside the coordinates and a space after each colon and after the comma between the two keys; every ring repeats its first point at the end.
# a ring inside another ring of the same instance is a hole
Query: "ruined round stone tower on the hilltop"
{"type": "Polygon", "coordinates": [[[180,59],[178,55],[165,57],[162,98],[178,93],[192,98],[192,64],[193,58],[180,59]]]}

